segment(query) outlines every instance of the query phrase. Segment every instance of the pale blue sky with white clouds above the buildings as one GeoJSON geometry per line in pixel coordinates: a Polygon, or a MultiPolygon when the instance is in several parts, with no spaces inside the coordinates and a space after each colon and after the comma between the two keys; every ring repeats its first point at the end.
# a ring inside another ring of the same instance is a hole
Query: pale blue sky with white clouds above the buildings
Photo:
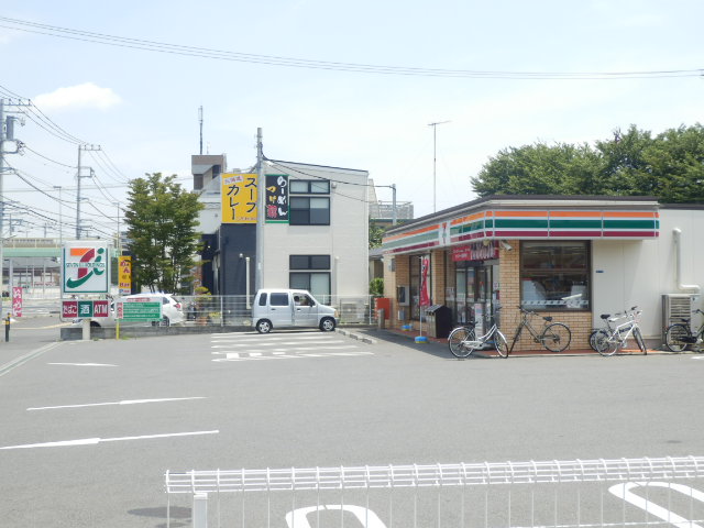
{"type": "MultiPolygon", "coordinates": [[[[25,148],[6,160],[21,177],[4,176],[4,198],[25,219],[15,235],[42,237],[47,226],[57,237],[61,209],[72,238],[76,140],[100,145],[82,153],[95,178],[81,179],[81,211],[89,234],[112,233],[128,178],[161,172],[193,188],[202,107],[204,153],[227,154],[230,169],[255,163],[262,128],[267,157],[369,170],[375,185],[396,185],[416,217],[429,215],[474,199],[470,178],[503,148],[701,122],[703,18],[701,0],[12,2],[0,9],[0,97],[31,99],[61,131],[36,113],[16,127],[25,148]],[[22,31],[38,29],[26,22],[63,36],[22,31]],[[135,41],[111,46],[66,30],[135,41]],[[334,65],[276,64],[289,58],[334,65]],[[673,70],[685,74],[650,74],[673,70]],[[613,75],[635,72],[646,74],[613,75]],[[433,138],[429,123],[444,121],[433,138]]],[[[376,191],[392,199],[387,187],[376,191]]]]}

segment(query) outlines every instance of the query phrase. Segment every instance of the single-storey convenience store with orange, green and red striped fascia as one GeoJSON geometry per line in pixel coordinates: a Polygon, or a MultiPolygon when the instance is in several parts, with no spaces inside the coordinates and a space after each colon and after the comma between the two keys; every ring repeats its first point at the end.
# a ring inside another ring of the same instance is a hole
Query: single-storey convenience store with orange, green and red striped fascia
{"type": "MultiPolygon", "coordinates": [[[[649,197],[481,198],[386,232],[387,324],[418,329],[425,284],[453,324],[488,328],[501,306],[499,328],[510,338],[520,306],[569,324],[571,349],[588,346],[601,314],[638,306],[648,344],[659,345],[669,322],[701,307],[702,232],[702,206],[649,197]]],[[[525,334],[517,350],[538,348],[525,334]]]]}

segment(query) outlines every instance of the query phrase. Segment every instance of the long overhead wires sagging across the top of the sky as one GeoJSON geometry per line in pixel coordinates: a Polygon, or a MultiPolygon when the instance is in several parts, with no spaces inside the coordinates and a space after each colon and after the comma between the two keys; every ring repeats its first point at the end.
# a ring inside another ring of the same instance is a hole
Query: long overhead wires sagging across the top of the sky
{"type": "Polygon", "coordinates": [[[373,64],[341,63],[329,61],[311,61],[305,58],[285,57],[277,55],[260,55],[251,53],[212,50],[182,44],[169,44],[143,38],[130,38],[105,33],[74,30],[48,24],[40,24],[8,16],[0,16],[0,28],[29,33],[37,33],[54,37],[90,42],[117,47],[158,52],[174,55],[212,58],[218,61],[231,61],[249,64],[262,64],[267,66],[286,66],[307,69],[322,69],[334,72],[350,72],[377,75],[402,75],[420,77],[461,77],[483,79],[624,79],[624,78],[661,78],[661,77],[698,77],[702,68],[694,69],[664,69],[644,72],[502,72],[502,70],[468,70],[419,68],[405,66],[388,66],[373,64]]]}

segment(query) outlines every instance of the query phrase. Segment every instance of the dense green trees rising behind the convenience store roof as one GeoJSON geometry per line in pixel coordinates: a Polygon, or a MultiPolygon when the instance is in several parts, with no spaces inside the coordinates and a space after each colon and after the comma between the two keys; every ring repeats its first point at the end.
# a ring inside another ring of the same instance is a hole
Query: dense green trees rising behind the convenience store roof
{"type": "Polygon", "coordinates": [[[652,196],[661,202],[704,202],[704,128],[682,125],[653,138],[630,125],[594,147],[508,147],[471,182],[480,196],[652,196]]]}

